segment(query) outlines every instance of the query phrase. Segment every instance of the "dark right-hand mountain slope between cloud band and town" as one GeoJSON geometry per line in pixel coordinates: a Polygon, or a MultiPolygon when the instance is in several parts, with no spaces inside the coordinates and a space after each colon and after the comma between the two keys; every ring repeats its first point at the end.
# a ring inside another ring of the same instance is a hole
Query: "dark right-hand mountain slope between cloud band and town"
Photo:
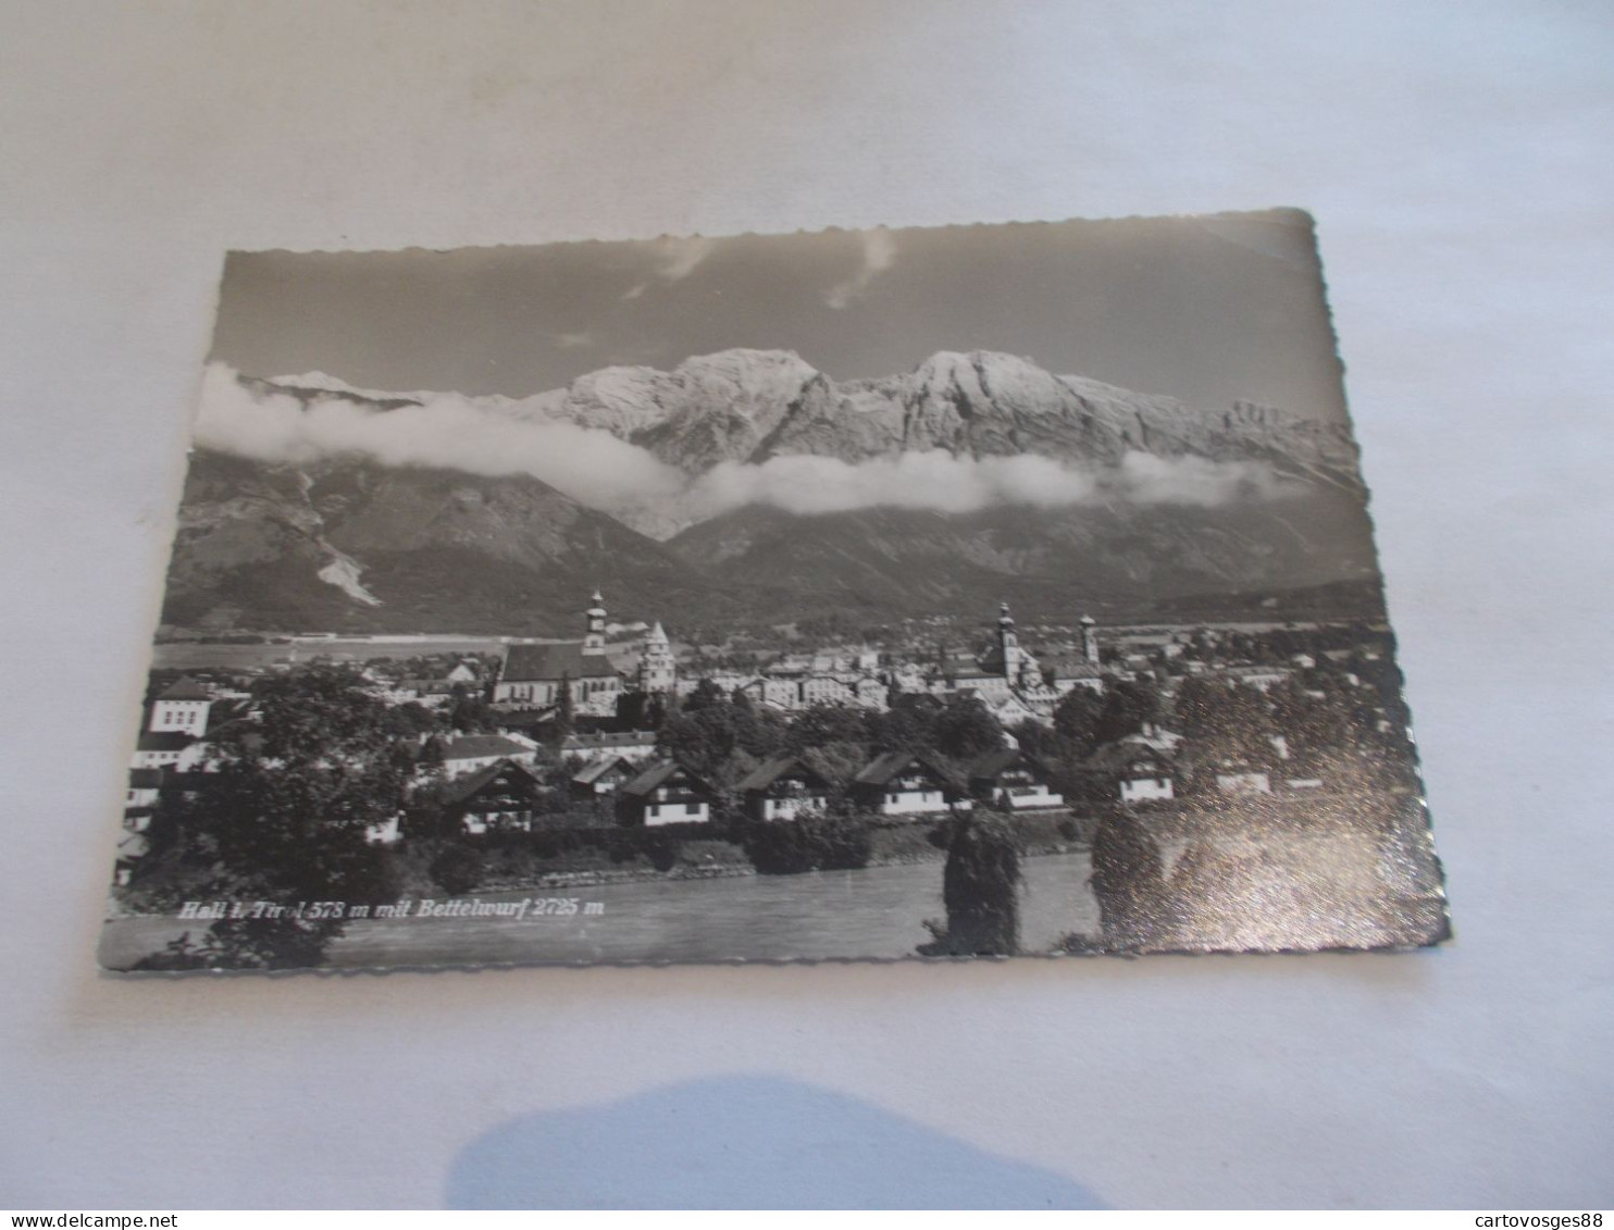
{"type": "Polygon", "coordinates": [[[1185,594],[1291,589],[1377,575],[1365,515],[1320,487],[1219,508],[1128,505],[791,517],[741,508],[668,544],[759,605],[872,617],[1012,600],[1028,617],[1138,613],[1185,594]]]}

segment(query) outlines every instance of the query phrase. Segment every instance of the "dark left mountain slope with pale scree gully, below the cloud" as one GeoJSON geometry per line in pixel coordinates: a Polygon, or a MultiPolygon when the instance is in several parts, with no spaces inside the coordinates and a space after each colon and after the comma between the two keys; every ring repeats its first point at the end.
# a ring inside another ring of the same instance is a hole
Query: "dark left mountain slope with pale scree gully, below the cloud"
{"type": "Polygon", "coordinates": [[[197,450],[163,620],[555,636],[575,631],[594,586],[649,607],[681,594],[686,573],[660,544],[533,478],[197,450]]]}

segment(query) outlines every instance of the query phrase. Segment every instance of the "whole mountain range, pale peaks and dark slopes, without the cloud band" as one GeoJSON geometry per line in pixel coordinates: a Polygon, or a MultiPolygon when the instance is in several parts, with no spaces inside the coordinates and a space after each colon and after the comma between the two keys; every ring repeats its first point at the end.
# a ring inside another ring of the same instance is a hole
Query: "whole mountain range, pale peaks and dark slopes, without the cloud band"
{"type": "MultiPolygon", "coordinates": [[[[991,507],[943,513],[889,507],[880,470],[863,471],[876,481],[855,487],[855,499],[789,504],[770,489],[780,475],[773,466],[749,471],[760,481],[736,487],[763,504],[736,508],[647,491],[625,507],[621,481],[615,502],[573,481],[587,466],[567,452],[578,447],[570,426],[537,433],[542,442],[528,446],[536,462],[520,465],[550,463],[544,473],[573,494],[529,473],[384,466],[352,454],[291,465],[197,450],[169,573],[171,625],[560,636],[576,631],[594,586],[625,615],[705,626],[834,609],[881,620],[999,599],[1028,615],[1138,615],[1188,596],[1375,576],[1365,492],[1343,425],[1252,404],[1204,413],[996,352],[939,352],[907,373],[838,383],[789,352],[725,350],[671,371],[605,368],[567,389],[455,397],[452,407],[436,407],[441,394],[350,389],[320,373],[239,384],[250,394],[244,413],[257,399],[282,395],[295,402],[294,421],[302,421],[297,407],[334,404],[383,431],[392,412],[407,410],[392,420],[400,433],[434,413],[465,431],[492,423],[521,434],[525,423],[565,423],[615,437],[591,439],[618,450],[610,458],[618,479],[639,473],[620,470],[623,455],[650,454],[697,489],[725,478],[712,475],[725,463],[812,455],[859,465],[931,450],[1030,454],[1094,481],[1072,497],[1077,504],[1017,502],[1020,487],[997,487],[991,507]],[[1219,470],[1235,481],[1209,497],[1106,481],[1125,479],[1139,455],[1191,463],[1151,462],[1167,473],[1240,466],[1219,470]],[[1240,478],[1254,471],[1262,481],[1240,478]],[[587,507],[591,499],[600,507],[587,507]],[[1198,504],[1173,502],[1190,499],[1198,504]],[[773,504],[851,510],[792,515],[773,504]]],[[[276,455],[303,455],[307,441],[297,444],[276,455]]],[[[434,460],[434,449],[383,452],[434,460]]],[[[492,462],[508,466],[505,457],[492,462]]],[[[597,457],[592,465],[597,471],[597,457]]],[[[925,505],[925,492],[914,499],[910,489],[905,502],[925,505]]]]}

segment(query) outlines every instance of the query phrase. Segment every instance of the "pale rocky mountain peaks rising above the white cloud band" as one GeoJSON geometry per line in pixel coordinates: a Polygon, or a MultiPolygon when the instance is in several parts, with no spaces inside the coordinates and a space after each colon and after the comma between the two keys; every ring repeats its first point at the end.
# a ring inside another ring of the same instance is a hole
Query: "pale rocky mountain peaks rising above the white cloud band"
{"type": "MultiPolygon", "coordinates": [[[[433,397],[358,391],[318,373],[305,384],[250,384],[305,405],[347,399],[371,410],[429,405],[433,397]]],[[[604,431],[691,478],[721,463],[802,454],[852,465],[925,450],[976,458],[1036,454],[1104,468],[1128,452],[1146,452],[1251,460],[1283,475],[1359,484],[1343,426],[1249,402],[1207,413],[1173,397],[1054,374],[1001,350],[938,350],[904,373],[836,381],[794,350],[734,347],[691,355],[670,371],[608,366],[525,399],[458,402],[604,431]]],[[[631,521],[649,528],[644,517],[631,521]]]]}

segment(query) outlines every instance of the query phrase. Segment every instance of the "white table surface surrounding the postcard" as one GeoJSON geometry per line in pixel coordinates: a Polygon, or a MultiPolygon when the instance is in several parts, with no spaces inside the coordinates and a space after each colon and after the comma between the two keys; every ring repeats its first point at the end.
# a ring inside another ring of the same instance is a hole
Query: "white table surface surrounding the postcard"
{"type": "Polygon", "coordinates": [[[1606,3],[5,5],[0,1204],[1608,1207],[1611,132],[1606,3]],[[226,249],[1269,205],[1448,949],[97,973],[226,249]]]}

